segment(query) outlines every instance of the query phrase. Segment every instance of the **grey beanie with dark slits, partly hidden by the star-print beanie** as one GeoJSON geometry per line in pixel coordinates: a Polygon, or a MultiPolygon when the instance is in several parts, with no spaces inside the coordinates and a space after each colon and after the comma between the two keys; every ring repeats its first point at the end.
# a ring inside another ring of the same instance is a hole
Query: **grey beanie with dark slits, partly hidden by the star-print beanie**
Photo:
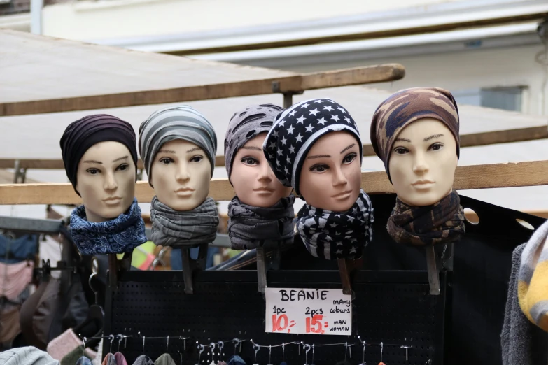
{"type": "Polygon", "coordinates": [[[285,109],[281,106],[260,104],[248,106],[232,115],[225,134],[225,167],[229,181],[234,156],[236,156],[238,150],[258,134],[268,133],[274,119],[283,110],[285,109]]]}

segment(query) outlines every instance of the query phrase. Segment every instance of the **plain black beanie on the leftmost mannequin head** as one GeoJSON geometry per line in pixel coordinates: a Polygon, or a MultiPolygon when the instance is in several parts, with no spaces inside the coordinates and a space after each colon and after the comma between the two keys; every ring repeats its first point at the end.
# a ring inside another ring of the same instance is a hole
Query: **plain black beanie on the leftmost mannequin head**
{"type": "MultiPolygon", "coordinates": [[[[122,143],[132,155],[137,167],[137,148],[132,124],[107,114],[87,115],[66,127],[61,137],[61,153],[64,169],[76,194],[76,176],[78,164],[84,153],[99,142],[114,141],[122,143]]],[[[136,170],[136,169],[135,169],[136,170]]],[[[135,175],[135,180],[137,176],[135,175]]]]}

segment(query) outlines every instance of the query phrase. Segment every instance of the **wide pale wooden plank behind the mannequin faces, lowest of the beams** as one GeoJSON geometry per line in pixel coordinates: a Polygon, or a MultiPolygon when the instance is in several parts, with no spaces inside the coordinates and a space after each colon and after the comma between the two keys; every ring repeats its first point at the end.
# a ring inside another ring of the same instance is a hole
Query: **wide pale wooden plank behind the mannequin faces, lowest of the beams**
{"type": "MultiPolygon", "coordinates": [[[[538,185],[548,185],[548,160],[458,166],[454,182],[458,190],[538,185]]],[[[394,192],[384,171],[362,173],[362,187],[368,194],[394,192]]],[[[154,190],[148,182],[137,183],[136,197],[139,201],[148,203],[153,196],[154,190]]],[[[234,196],[234,189],[227,179],[213,179],[210,196],[217,201],[228,201],[234,196]]],[[[80,197],[67,183],[0,185],[0,205],[80,203],[80,197]]]]}

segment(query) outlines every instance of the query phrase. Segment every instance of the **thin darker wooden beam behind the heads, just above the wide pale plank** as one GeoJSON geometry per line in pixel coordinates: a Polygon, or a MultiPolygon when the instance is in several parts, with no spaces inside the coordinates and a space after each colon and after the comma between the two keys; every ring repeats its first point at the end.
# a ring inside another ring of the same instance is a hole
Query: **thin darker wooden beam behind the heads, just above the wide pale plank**
{"type": "MultiPolygon", "coordinates": [[[[463,134],[461,136],[462,147],[474,147],[479,145],[493,145],[496,143],[512,143],[535,141],[548,138],[547,127],[527,127],[507,129],[504,131],[488,131],[482,133],[463,134]]],[[[372,145],[363,145],[364,156],[374,156],[372,145]]],[[[21,168],[27,169],[64,169],[61,159],[20,159],[21,168]]],[[[0,169],[13,169],[15,159],[0,159],[0,169]]],[[[225,166],[225,157],[216,156],[215,166],[225,166]]],[[[141,159],[137,162],[137,168],[143,169],[141,159]]]]}

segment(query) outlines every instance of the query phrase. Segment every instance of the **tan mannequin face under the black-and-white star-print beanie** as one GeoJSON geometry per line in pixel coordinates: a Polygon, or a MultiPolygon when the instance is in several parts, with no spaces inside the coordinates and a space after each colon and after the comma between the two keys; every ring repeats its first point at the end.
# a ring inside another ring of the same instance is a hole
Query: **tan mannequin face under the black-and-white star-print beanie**
{"type": "Polygon", "coordinates": [[[344,212],[358,199],[360,146],[351,134],[337,131],[314,143],[302,164],[300,192],[316,208],[344,212]]]}

